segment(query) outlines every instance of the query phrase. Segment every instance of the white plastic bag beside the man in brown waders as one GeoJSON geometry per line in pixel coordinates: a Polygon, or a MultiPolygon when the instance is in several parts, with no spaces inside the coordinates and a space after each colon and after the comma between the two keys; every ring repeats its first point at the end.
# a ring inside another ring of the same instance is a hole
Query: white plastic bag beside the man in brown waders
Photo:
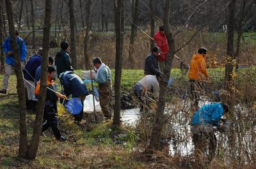
{"type": "MultiPolygon", "coordinates": [[[[100,108],[100,102],[97,101],[94,97],[94,102],[95,102],[95,111],[99,112],[101,110],[100,108]]],[[[92,94],[86,96],[86,98],[84,99],[84,112],[86,113],[92,113],[93,112],[93,96],[92,94]]]]}

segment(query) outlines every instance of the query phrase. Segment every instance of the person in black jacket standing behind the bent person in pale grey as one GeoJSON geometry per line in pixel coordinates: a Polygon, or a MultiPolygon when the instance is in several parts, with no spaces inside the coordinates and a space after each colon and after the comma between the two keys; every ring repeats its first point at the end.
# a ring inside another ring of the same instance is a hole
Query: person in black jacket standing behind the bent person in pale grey
{"type": "Polygon", "coordinates": [[[159,49],[154,47],[152,53],[149,54],[145,60],[144,75],[161,75],[160,68],[158,66],[157,55],[159,55],[159,49]]]}

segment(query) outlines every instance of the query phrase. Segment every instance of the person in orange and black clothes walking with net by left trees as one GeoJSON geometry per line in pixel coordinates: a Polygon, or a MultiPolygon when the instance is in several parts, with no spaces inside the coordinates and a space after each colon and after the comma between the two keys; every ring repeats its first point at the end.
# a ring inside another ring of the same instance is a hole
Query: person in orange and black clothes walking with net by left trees
{"type": "MultiPolygon", "coordinates": [[[[66,96],[58,92],[54,92],[54,75],[56,70],[54,67],[49,66],[47,70],[47,91],[45,96],[45,107],[44,107],[44,119],[45,122],[42,125],[42,135],[49,127],[52,128],[52,132],[56,137],[56,140],[64,142],[67,140],[64,136],[61,136],[60,129],[58,128],[58,115],[57,115],[57,101],[58,98],[67,99],[66,96]]],[[[35,94],[40,94],[40,81],[36,85],[35,94]]]]}

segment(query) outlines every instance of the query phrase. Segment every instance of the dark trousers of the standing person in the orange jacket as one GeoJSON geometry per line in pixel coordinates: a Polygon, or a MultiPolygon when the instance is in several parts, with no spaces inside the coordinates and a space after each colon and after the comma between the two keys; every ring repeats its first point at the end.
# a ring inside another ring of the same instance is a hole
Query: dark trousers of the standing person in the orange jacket
{"type": "Polygon", "coordinates": [[[194,101],[193,105],[198,108],[202,84],[197,80],[189,80],[189,82],[190,82],[191,99],[193,99],[194,101]]]}

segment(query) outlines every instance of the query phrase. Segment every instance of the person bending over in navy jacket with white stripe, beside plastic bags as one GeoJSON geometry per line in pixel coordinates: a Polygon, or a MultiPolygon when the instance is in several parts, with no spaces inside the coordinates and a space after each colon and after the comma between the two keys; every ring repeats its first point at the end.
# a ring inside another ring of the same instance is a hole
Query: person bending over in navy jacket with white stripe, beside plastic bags
{"type": "MultiPolygon", "coordinates": [[[[89,94],[83,80],[73,71],[65,71],[60,74],[60,81],[65,95],[68,97],[72,94],[72,98],[81,99],[83,105],[85,97],[89,94]]],[[[75,122],[81,122],[83,119],[83,108],[80,114],[74,115],[74,117],[75,122]]]]}

